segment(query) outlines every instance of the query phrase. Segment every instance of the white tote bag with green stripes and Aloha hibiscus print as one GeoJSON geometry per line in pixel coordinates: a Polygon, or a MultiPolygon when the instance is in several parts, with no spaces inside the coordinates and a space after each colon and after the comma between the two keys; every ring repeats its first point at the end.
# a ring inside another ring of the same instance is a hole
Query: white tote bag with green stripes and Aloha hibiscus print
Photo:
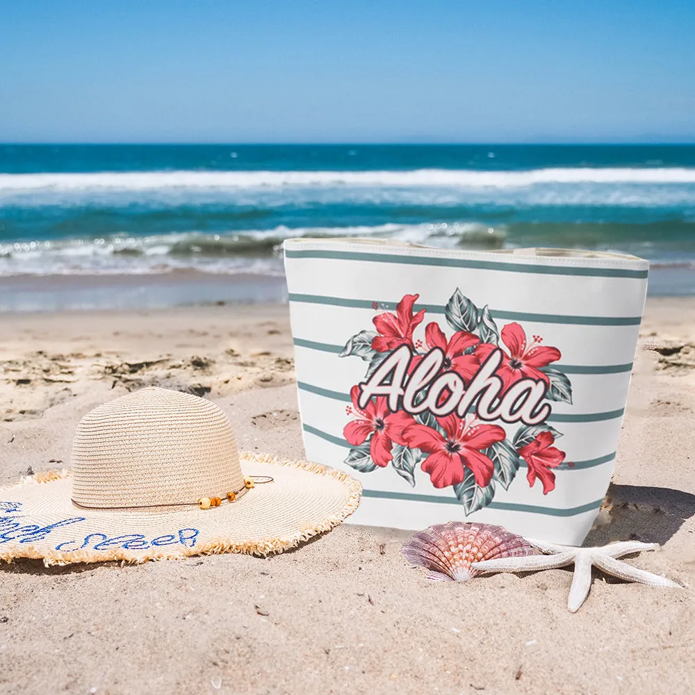
{"type": "Polygon", "coordinates": [[[284,244],[306,457],[352,523],[580,545],[610,483],[648,262],[390,240],[284,244]]]}

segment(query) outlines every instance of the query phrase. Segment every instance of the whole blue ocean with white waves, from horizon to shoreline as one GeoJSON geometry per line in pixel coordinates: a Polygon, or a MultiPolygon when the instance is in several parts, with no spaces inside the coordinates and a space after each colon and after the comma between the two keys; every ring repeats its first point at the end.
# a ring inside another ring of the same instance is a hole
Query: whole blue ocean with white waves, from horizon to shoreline
{"type": "Polygon", "coordinates": [[[695,295],[695,145],[0,145],[0,278],[281,278],[293,236],[621,251],[695,295]]]}

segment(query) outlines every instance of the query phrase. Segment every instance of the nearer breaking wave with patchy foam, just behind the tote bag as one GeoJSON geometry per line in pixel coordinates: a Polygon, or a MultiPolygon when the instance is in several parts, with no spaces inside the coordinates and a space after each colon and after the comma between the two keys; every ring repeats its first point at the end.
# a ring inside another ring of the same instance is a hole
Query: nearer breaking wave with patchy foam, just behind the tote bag
{"type": "Polygon", "coordinates": [[[195,269],[219,274],[281,276],[287,238],[390,238],[448,249],[564,247],[630,253],[653,267],[695,268],[695,221],[654,224],[479,222],[378,224],[353,227],[280,225],[213,234],[204,231],[0,243],[0,276],[142,275],[195,269]]]}

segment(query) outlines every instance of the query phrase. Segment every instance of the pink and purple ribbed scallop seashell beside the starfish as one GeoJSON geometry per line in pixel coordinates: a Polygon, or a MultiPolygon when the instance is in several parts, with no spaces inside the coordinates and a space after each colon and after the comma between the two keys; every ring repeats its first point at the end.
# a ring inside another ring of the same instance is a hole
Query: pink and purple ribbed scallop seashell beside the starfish
{"type": "Polygon", "coordinates": [[[413,534],[402,547],[413,564],[430,570],[427,579],[465,582],[474,562],[535,553],[530,543],[502,526],[451,521],[413,534]]]}

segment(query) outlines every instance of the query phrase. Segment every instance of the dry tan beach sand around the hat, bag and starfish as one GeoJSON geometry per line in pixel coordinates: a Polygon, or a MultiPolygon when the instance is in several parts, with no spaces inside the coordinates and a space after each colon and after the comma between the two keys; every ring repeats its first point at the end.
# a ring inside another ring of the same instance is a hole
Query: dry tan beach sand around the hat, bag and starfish
{"type": "MultiPolygon", "coordinates": [[[[240,445],[302,457],[286,306],[0,315],[0,483],[69,465],[97,404],[187,389],[240,445]]],[[[587,544],[685,584],[571,571],[425,580],[404,532],[344,524],[277,557],[0,567],[0,693],[695,692],[695,299],[648,302],[614,484],[587,544]]]]}

